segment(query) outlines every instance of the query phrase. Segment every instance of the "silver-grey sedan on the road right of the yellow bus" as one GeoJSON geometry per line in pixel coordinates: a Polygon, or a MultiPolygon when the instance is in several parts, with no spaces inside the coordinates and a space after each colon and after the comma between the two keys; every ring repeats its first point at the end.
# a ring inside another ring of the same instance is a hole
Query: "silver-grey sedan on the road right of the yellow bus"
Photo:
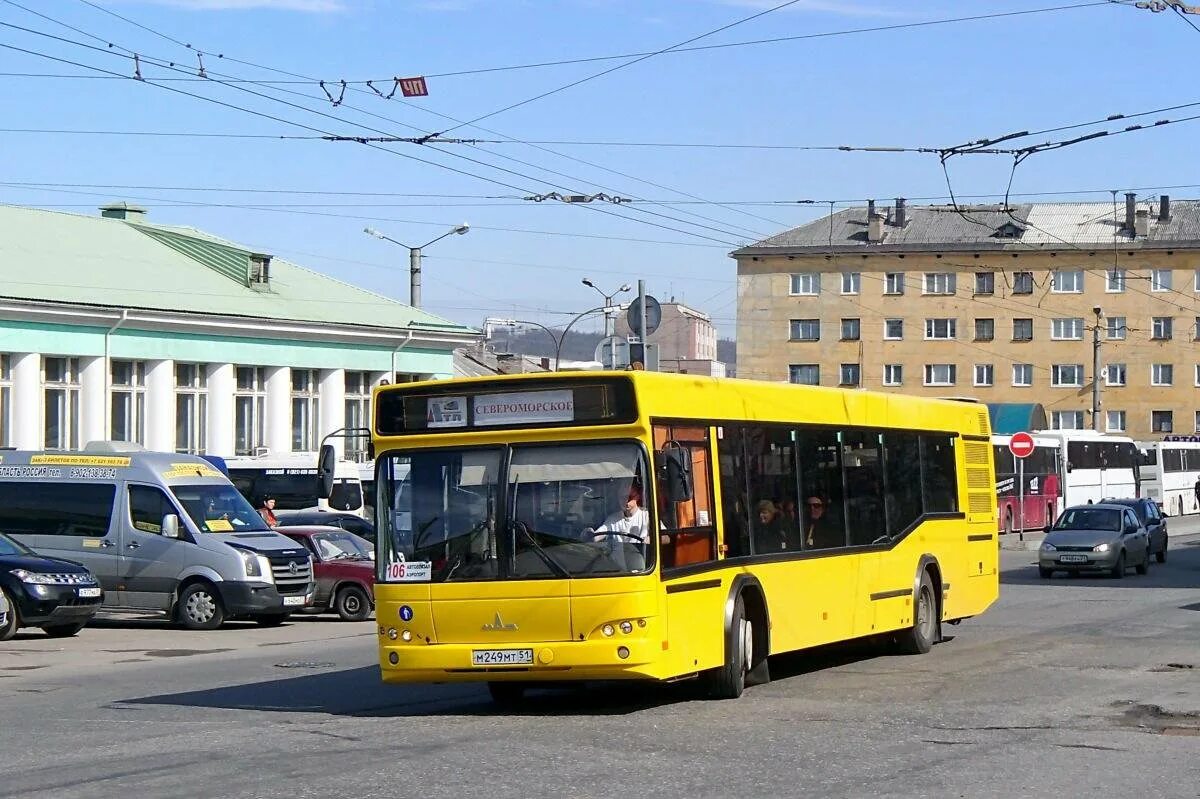
{"type": "Polygon", "coordinates": [[[1124,577],[1134,566],[1139,575],[1150,570],[1150,536],[1127,505],[1075,505],[1046,528],[1038,549],[1038,573],[1056,571],[1106,571],[1124,577]]]}

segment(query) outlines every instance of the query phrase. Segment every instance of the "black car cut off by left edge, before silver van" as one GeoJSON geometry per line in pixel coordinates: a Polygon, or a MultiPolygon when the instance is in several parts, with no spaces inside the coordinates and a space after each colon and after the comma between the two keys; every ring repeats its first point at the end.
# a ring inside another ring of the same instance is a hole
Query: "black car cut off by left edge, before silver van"
{"type": "Polygon", "coordinates": [[[72,560],[43,558],[0,533],[0,641],[19,627],[41,627],[54,638],[73,636],[96,614],[104,591],[96,577],[72,560]]]}

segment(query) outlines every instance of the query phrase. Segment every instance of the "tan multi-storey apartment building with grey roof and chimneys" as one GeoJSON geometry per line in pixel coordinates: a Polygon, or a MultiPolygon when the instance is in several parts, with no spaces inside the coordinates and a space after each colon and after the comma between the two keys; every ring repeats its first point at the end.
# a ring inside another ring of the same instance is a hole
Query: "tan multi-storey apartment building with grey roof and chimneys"
{"type": "Polygon", "coordinates": [[[732,253],[738,374],[1200,431],[1200,202],[840,210],[732,253]],[[1099,368],[1096,362],[1098,352],[1099,368]]]}

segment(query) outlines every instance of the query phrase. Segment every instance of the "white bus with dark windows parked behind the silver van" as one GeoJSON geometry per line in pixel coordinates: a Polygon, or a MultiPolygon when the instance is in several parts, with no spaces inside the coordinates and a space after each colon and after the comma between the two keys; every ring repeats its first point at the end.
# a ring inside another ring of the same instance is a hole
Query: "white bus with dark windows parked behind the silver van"
{"type": "Polygon", "coordinates": [[[318,507],[365,518],[359,464],[337,461],[332,491],[328,497],[320,497],[314,461],[312,455],[305,453],[224,459],[229,480],[254,507],[260,507],[266,497],[274,497],[276,510],[318,507]]]}

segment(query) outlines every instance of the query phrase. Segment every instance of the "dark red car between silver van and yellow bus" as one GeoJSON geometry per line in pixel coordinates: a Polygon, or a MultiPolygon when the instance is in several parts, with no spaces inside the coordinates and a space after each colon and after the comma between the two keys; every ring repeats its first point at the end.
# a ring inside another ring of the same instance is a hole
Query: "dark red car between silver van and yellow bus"
{"type": "Polygon", "coordinates": [[[312,554],[318,612],[336,611],[347,621],[365,621],[374,609],[374,551],[371,543],[336,527],[276,528],[312,554]]]}

